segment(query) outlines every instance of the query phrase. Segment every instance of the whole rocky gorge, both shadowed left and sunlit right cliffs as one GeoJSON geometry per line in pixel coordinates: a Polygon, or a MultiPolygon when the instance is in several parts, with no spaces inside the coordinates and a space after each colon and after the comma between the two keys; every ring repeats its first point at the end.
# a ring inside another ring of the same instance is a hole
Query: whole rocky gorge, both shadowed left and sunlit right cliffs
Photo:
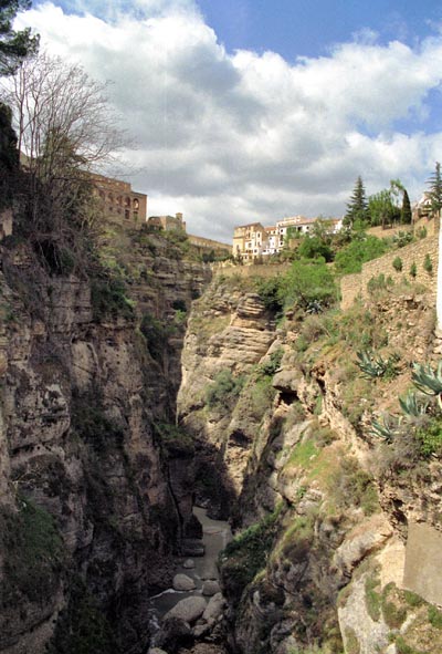
{"type": "Polygon", "coordinates": [[[372,427],[439,361],[432,294],[281,314],[271,267],[185,236],[112,225],[101,256],[124,289],[1,245],[0,652],[440,652],[440,458],[372,427]],[[158,637],[193,507],[233,530],[222,594],[158,637]]]}

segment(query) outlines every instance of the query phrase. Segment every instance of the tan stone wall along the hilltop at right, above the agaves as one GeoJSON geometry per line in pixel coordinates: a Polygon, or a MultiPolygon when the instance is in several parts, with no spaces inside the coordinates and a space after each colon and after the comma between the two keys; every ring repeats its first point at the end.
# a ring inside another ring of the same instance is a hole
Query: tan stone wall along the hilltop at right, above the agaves
{"type": "Polygon", "coordinates": [[[348,309],[354,300],[360,295],[367,297],[367,284],[371,278],[383,274],[386,279],[390,277],[396,283],[407,279],[413,281],[410,274],[411,266],[415,263],[417,276],[414,281],[423,283],[431,293],[436,295],[438,280],[438,235],[428,236],[414,243],[410,243],[399,250],[388,252],[383,257],[373,259],[364,263],[362,271],[356,274],[346,274],[340,281],[341,309],[348,309]],[[433,269],[428,272],[424,269],[424,260],[429,255],[433,269]],[[402,270],[398,272],[393,268],[394,259],[399,257],[402,260],[402,270]]]}

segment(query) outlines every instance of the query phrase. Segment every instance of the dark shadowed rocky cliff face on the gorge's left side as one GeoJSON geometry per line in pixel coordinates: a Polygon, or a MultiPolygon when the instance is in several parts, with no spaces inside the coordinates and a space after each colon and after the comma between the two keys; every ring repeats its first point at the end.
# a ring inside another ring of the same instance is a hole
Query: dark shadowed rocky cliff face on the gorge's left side
{"type": "Polygon", "coordinates": [[[115,308],[97,283],[44,273],[23,246],[2,249],[8,654],[39,654],[51,637],[57,653],[141,652],[147,599],[169,581],[191,521],[191,454],[161,443],[158,425],[175,422],[186,310],[208,272],[179,252],[167,258],[161,237],[134,239],[125,266],[135,311],[125,299],[115,308]]]}

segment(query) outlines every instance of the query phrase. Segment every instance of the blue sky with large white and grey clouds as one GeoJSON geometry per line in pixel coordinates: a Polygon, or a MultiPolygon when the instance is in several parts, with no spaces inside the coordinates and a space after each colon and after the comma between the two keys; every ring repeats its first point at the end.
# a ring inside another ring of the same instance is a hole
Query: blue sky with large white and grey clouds
{"type": "Polygon", "coordinates": [[[359,175],[418,200],[442,159],[435,0],[34,0],[23,27],[112,81],[127,179],[191,233],[340,216],[359,175]]]}

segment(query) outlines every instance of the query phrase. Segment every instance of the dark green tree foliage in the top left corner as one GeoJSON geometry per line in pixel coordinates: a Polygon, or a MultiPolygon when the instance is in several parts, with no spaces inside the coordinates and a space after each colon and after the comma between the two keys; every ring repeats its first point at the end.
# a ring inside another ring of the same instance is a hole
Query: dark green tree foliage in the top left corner
{"type": "Polygon", "coordinates": [[[39,46],[39,37],[32,37],[30,29],[21,32],[12,29],[17,13],[30,7],[31,0],[0,0],[0,75],[12,74],[39,46]]]}

